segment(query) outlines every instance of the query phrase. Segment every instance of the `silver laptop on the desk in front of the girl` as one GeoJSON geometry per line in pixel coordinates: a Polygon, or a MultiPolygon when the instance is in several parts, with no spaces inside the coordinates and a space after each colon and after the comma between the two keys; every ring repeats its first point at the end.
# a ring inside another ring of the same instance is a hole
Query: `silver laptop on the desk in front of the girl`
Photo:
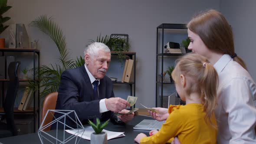
{"type": "Polygon", "coordinates": [[[160,130],[164,123],[165,123],[165,121],[144,119],[143,121],[141,121],[140,123],[135,125],[135,127],[133,127],[133,129],[149,130],[149,131],[151,131],[151,130],[160,130]]]}

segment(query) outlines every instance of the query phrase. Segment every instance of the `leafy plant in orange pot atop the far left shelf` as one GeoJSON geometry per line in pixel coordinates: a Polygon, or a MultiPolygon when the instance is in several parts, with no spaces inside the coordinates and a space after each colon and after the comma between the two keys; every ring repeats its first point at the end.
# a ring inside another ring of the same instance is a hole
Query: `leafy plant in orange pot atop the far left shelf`
{"type": "MultiPolygon", "coordinates": [[[[8,26],[3,26],[3,23],[10,20],[10,17],[3,17],[3,13],[7,12],[11,7],[7,6],[7,0],[0,0],[0,34],[3,33],[8,26]]],[[[0,38],[0,48],[5,47],[5,39],[0,38]]]]}

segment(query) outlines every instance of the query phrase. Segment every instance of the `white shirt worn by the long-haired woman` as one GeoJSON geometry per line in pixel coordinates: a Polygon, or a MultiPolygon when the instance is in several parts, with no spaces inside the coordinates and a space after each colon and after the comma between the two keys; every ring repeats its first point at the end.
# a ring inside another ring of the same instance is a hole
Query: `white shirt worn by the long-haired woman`
{"type": "Polygon", "coordinates": [[[246,69],[227,54],[214,65],[219,75],[218,144],[256,144],[256,85],[246,69]]]}

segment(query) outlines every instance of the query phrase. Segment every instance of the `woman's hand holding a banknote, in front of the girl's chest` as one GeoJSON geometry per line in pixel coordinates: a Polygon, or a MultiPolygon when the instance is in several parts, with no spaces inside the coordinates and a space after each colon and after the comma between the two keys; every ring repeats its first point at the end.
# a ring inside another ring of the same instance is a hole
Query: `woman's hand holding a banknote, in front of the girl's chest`
{"type": "Polygon", "coordinates": [[[153,111],[148,111],[152,118],[158,120],[158,121],[164,121],[168,118],[169,113],[167,108],[154,108],[160,113],[156,113],[153,111]]]}

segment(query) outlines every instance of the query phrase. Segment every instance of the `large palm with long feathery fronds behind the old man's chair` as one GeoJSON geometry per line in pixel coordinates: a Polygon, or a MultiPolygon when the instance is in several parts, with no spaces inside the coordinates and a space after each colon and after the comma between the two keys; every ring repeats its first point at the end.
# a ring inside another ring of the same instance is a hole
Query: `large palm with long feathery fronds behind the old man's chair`
{"type": "MultiPolygon", "coordinates": [[[[28,87],[31,92],[35,92],[40,88],[40,97],[43,101],[49,93],[57,92],[62,72],[66,69],[83,65],[84,59],[82,56],[76,59],[69,58],[69,51],[66,48],[66,38],[62,33],[62,29],[54,22],[52,17],[41,15],[33,20],[30,26],[35,26],[48,35],[59,50],[59,64],[41,65],[35,72],[36,81],[31,78],[29,78],[31,81],[28,81],[28,87]]],[[[31,73],[33,74],[33,72],[31,73]]]]}

